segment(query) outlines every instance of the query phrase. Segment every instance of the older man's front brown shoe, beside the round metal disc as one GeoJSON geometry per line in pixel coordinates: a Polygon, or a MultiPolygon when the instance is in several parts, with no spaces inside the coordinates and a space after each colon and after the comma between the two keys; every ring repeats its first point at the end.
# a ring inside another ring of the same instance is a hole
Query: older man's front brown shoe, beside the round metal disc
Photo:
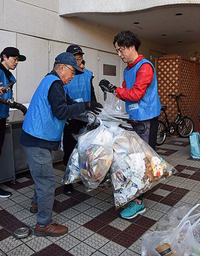
{"type": "Polygon", "coordinates": [[[68,227],[56,223],[46,225],[45,227],[40,227],[37,224],[34,230],[36,236],[60,236],[65,235],[67,232],[68,227]]]}

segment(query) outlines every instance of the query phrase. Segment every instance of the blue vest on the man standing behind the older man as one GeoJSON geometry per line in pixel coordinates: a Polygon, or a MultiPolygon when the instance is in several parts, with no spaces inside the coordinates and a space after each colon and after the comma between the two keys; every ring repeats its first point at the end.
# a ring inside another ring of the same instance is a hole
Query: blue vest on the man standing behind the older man
{"type": "Polygon", "coordinates": [[[92,72],[85,68],[83,71],[83,74],[75,75],[69,84],[64,85],[65,93],[77,102],[91,101],[92,72]]]}

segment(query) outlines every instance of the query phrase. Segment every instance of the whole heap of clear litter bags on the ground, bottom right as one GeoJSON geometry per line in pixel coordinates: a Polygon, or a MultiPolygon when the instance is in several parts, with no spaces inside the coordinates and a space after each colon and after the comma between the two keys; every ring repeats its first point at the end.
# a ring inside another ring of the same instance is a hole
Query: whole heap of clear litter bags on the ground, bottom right
{"type": "Polygon", "coordinates": [[[199,205],[176,209],[158,222],[158,231],[143,236],[141,256],[200,256],[199,205]]]}

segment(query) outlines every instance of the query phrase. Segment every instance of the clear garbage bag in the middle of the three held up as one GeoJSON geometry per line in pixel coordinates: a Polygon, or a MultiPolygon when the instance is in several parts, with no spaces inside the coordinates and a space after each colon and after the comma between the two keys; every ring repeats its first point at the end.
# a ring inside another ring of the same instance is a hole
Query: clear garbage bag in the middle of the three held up
{"type": "Polygon", "coordinates": [[[110,168],[112,141],[113,137],[104,125],[78,139],[80,175],[87,192],[99,186],[110,168]]]}

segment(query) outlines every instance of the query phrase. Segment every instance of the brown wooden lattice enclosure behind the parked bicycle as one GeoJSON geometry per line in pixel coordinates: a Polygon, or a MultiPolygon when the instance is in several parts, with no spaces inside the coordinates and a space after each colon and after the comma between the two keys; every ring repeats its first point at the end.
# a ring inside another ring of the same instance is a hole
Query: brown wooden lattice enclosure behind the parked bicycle
{"type": "MultiPolygon", "coordinates": [[[[185,94],[187,98],[181,98],[180,109],[183,115],[194,121],[196,131],[200,110],[200,63],[180,56],[168,56],[155,59],[155,67],[160,101],[168,107],[169,120],[174,120],[178,111],[175,99],[168,94],[185,94]]],[[[161,115],[160,119],[163,120],[163,117],[161,115]]]]}

